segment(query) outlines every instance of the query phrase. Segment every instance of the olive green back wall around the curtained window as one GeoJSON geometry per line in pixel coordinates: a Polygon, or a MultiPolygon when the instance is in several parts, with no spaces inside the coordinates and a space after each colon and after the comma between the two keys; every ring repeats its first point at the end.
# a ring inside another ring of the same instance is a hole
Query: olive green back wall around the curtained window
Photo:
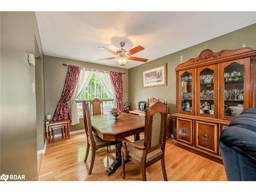
{"type": "MultiPolygon", "coordinates": [[[[45,93],[46,93],[46,114],[54,114],[56,109],[56,105],[60,99],[63,86],[65,84],[65,79],[68,71],[67,66],[63,66],[62,63],[78,65],[89,68],[96,68],[100,70],[108,70],[108,71],[121,71],[123,74],[123,101],[127,101],[128,99],[128,70],[104,65],[98,65],[91,62],[83,62],[78,60],[66,59],[61,57],[54,57],[45,55],[45,93]]],[[[70,102],[68,102],[70,106],[70,102]]],[[[80,119],[80,123],[74,126],[71,126],[70,131],[76,131],[84,129],[84,125],[82,123],[82,119],[80,119]]],[[[59,132],[57,132],[59,133],[59,132]]]]}

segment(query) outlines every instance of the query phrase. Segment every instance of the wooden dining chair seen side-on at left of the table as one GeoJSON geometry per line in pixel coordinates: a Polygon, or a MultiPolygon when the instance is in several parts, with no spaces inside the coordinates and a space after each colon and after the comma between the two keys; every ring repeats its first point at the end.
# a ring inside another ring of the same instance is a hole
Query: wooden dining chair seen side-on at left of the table
{"type": "Polygon", "coordinates": [[[91,115],[89,106],[87,105],[86,101],[82,101],[82,110],[83,110],[83,122],[84,122],[84,128],[86,130],[86,136],[87,136],[87,148],[86,148],[86,157],[84,158],[84,162],[87,161],[88,155],[89,155],[89,149],[91,147],[92,150],[92,160],[90,164],[90,170],[89,175],[91,175],[93,170],[93,164],[95,160],[95,154],[96,150],[99,148],[103,148],[110,145],[115,145],[115,141],[104,141],[101,138],[99,138],[96,134],[92,131],[92,123],[91,123],[91,115]]]}

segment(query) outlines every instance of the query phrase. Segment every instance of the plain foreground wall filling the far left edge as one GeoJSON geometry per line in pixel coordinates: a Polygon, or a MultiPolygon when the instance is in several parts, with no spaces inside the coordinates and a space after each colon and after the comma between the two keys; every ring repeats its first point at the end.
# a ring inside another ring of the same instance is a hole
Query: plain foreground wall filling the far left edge
{"type": "Polygon", "coordinates": [[[37,180],[35,66],[42,57],[35,12],[1,12],[1,173],[37,180]],[[38,47],[38,50],[36,51],[38,47]]]}

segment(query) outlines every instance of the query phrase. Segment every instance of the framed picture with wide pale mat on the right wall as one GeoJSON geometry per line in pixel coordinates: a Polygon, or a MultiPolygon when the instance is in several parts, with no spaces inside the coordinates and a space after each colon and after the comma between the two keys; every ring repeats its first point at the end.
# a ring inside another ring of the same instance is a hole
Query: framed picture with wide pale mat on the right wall
{"type": "Polygon", "coordinates": [[[166,65],[157,66],[142,72],[143,88],[167,86],[166,65]]]}

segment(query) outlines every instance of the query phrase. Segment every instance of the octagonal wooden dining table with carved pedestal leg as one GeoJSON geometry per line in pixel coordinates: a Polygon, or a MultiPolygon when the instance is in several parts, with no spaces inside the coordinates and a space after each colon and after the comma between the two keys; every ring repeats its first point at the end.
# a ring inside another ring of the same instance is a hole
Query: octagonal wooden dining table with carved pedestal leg
{"type": "Polygon", "coordinates": [[[120,139],[134,135],[134,140],[139,140],[139,134],[144,132],[145,118],[122,113],[118,119],[115,119],[111,114],[103,114],[91,116],[91,121],[95,134],[101,139],[117,141],[116,159],[106,170],[106,174],[110,176],[122,165],[122,141],[120,139]]]}

